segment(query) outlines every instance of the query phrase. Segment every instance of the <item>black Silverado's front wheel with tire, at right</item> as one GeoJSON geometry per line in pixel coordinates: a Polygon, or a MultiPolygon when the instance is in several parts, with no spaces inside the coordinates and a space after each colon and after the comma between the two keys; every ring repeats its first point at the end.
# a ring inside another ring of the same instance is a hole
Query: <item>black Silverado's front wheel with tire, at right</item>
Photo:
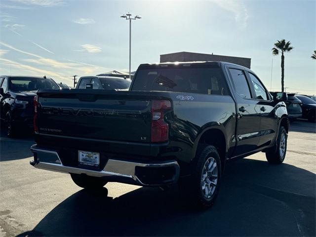
{"type": "Polygon", "coordinates": [[[266,152],[266,158],[268,162],[270,164],[282,163],[286,155],[286,148],[287,148],[287,133],[286,133],[285,128],[283,126],[280,126],[277,139],[276,139],[276,144],[268,152],[266,152]]]}

